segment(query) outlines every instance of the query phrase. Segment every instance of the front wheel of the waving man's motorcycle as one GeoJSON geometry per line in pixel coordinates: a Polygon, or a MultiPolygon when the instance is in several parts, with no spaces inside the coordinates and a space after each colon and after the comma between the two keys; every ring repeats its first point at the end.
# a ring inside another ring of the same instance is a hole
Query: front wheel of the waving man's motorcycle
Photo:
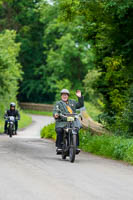
{"type": "Polygon", "coordinates": [[[76,155],[76,139],[77,139],[77,135],[72,135],[72,142],[71,142],[71,146],[69,149],[69,158],[70,158],[70,162],[74,162],[75,161],[75,155],[76,155]]]}

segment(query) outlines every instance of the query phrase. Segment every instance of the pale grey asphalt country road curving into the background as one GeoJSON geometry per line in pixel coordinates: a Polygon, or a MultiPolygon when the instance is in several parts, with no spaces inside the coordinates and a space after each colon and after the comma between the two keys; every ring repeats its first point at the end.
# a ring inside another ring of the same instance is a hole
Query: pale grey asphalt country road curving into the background
{"type": "Polygon", "coordinates": [[[32,116],[18,136],[0,136],[0,200],[133,200],[133,167],[88,153],[62,161],[40,139],[50,117],[32,116]]]}

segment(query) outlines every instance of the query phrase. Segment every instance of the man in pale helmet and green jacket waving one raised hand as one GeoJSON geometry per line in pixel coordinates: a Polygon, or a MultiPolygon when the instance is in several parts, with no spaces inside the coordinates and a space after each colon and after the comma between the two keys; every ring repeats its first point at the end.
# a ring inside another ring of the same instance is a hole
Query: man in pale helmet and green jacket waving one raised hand
{"type": "MultiPolygon", "coordinates": [[[[56,130],[56,147],[57,152],[62,150],[62,141],[63,141],[63,131],[67,122],[66,119],[60,117],[61,114],[65,113],[76,113],[76,109],[79,109],[84,106],[84,98],[80,90],[77,90],[76,96],[78,97],[78,102],[75,100],[69,99],[70,92],[67,89],[61,90],[61,100],[56,103],[53,110],[53,116],[56,121],[55,130],[56,130]]],[[[80,122],[77,120],[77,133],[81,128],[80,122]]],[[[79,135],[77,134],[77,147],[79,146],[79,135]]]]}

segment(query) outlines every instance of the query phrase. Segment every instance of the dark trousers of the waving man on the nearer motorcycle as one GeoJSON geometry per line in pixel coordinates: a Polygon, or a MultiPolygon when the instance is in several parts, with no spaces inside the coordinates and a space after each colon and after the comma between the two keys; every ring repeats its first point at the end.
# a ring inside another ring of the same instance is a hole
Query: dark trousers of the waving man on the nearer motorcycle
{"type": "MultiPolygon", "coordinates": [[[[63,128],[56,128],[56,147],[58,148],[61,148],[62,147],[62,142],[63,142],[63,132],[64,132],[64,129],[63,128]]],[[[79,131],[78,129],[76,130],[77,131],[77,146],[79,146],[79,131]]]]}

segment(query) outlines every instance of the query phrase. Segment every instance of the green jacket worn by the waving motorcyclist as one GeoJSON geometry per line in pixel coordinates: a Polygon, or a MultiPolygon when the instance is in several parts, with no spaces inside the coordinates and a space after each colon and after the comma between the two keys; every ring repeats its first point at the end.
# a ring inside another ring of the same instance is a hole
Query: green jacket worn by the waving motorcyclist
{"type": "MultiPolygon", "coordinates": [[[[73,113],[76,113],[76,109],[79,109],[79,108],[84,106],[84,98],[83,98],[83,96],[78,98],[78,102],[76,102],[75,100],[68,100],[68,104],[66,104],[62,100],[58,101],[54,106],[53,115],[55,113],[61,113],[63,115],[66,114],[66,113],[69,113],[67,108],[66,108],[66,105],[69,105],[71,107],[73,113]]],[[[59,117],[55,121],[56,121],[55,128],[59,128],[59,127],[63,128],[67,125],[66,118],[63,119],[63,118],[59,117]]],[[[78,121],[75,124],[75,126],[79,128],[79,122],[78,121]]]]}

